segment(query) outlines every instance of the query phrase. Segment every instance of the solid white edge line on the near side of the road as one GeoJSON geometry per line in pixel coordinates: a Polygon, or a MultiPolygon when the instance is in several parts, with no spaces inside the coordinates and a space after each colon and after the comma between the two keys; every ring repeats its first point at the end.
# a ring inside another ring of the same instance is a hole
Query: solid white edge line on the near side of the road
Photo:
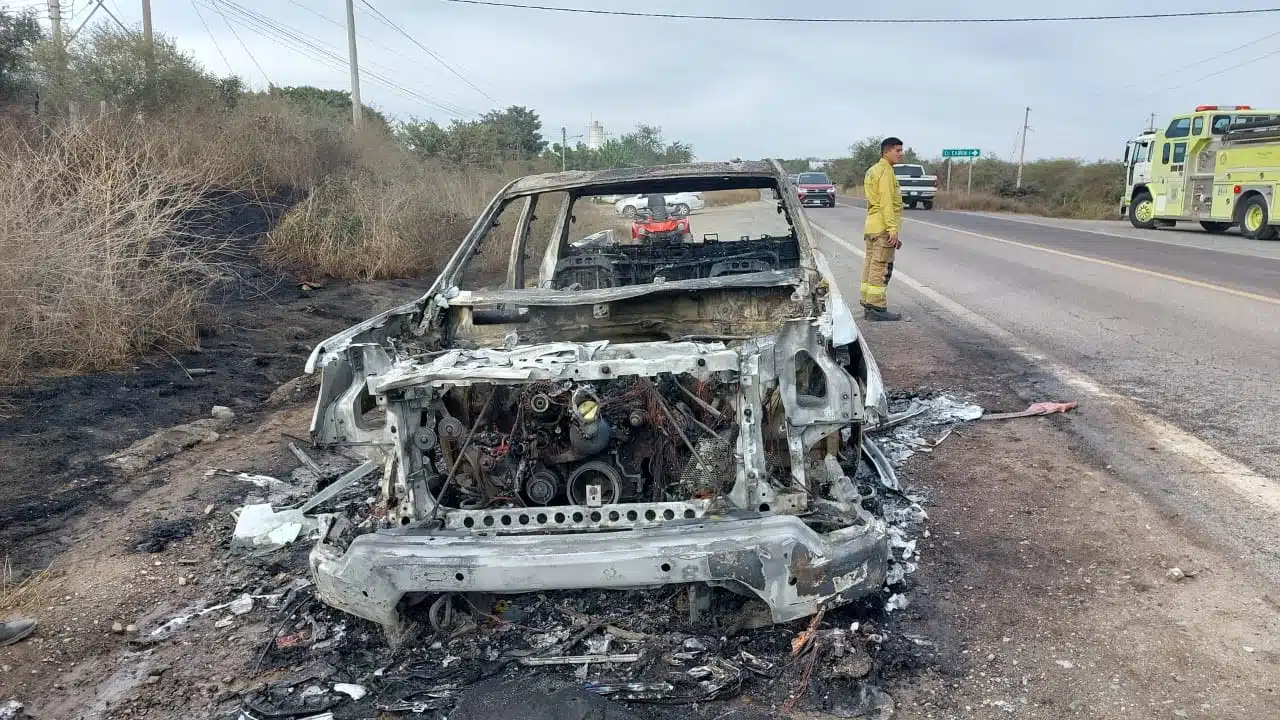
{"type": "MultiPolygon", "coordinates": [[[[845,250],[858,255],[859,258],[864,255],[861,247],[855,246],[820,224],[814,223],[812,219],[809,220],[809,224],[845,250]]],[[[1094,400],[1108,404],[1116,410],[1124,413],[1135,421],[1139,429],[1151,436],[1162,451],[1170,455],[1178,455],[1189,461],[1192,465],[1203,468],[1206,474],[1212,475],[1233,492],[1239,493],[1247,500],[1260,502],[1274,512],[1280,512],[1280,483],[1276,480],[1256,473],[1244,464],[1222,455],[1196,436],[1185,433],[1160,418],[1143,411],[1126,397],[1106,389],[1101,383],[1089,375],[1051,359],[1048,355],[1021,342],[1016,336],[1005,328],[974,313],[964,305],[960,305],[941,292],[925,286],[906,273],[902,273],[897,268],[893,268],[893,281],[901,282],[916,293],[928,299],[931,302],[965,322],[974,329],[1011,348],[1024,360],[1043,368],[1062,383],[1074,387],[1080,392],[1088,393],[1094,400]]]]}

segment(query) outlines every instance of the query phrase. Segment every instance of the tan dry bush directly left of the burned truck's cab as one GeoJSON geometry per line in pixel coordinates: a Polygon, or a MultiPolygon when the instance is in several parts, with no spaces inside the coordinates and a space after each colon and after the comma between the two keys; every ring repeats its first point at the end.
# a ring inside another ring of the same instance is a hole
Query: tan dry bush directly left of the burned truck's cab
{"type": "Polygon", "coordinates": [[[325,179],[284,217],[265,255],[317,278],[428,275],[453,255],[500,183],[497,173],[444,168],[325,179]]]}

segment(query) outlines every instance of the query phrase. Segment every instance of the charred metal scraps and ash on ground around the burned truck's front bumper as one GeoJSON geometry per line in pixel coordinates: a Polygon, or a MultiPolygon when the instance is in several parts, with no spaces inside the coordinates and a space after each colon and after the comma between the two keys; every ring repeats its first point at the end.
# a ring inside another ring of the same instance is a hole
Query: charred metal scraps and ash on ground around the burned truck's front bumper
{"type": "MultiPolygon", "coordinates": [[[[933,646],[924,638],[896,637],[883,624],[891,612],[910,606],[909,575],[918,566],[916,539],[928,519],[924,491],[911,488],[899,470],[913,452],[934,447],[956,424],[980,415],[977,406],[946,395],[900,398],[892,407],[900,411],[864,445],[868,462],[850,479],[864,488],[859,492],[867,492],[868,483],[881,488],[878,505],[892,553],[886,589],[869,606],[806,619],[800,635],[786,625],[742,629],[753,626],[755,609],[732,593],[717,596],[696,624],[690,621],[689,596],[669,589],[529,593],[497,602],[443,594],[417,606],[401,644],[390,648],[380,630],[325,606],[311,583],[297,577],[276,578],[265,585],[268,592],[238,592],[228,602],[192,610],[160,634],[186,632],[218,610],[227,618],[262,618],[275,628],[259,651],[259,669],[292,671],[244,694],[239,712],[246,720],[282,712],[443,714],[466,688],[494,676],[548,676],[611,702],[634,703],[708,702],[751,687],[754,697],[773,698],[774,707],[790,703],[837,715],[859,708],[867,716],[887,716],[877,715],[892,707],[876,684],[877,659],[890,648],[919,653],[933,646]],[[415,626],[434,629],[424,635],[415,626]]],[[[376,475],[362,474],[349,489],[357,497],[372,493],[376,475]]],[[[308,489],[294,488],[294,495],[308,489]]],[[[343,505],[344,523],[372,528],[371,515],[364,516],[372,506],[343,505]]],[[[297,557],[305,551],[293,544],[274,553],[297,557]]],[[[212,626],[201,632],[215,637],[230,626],[212,618],[206,623],[212,626]]]]}

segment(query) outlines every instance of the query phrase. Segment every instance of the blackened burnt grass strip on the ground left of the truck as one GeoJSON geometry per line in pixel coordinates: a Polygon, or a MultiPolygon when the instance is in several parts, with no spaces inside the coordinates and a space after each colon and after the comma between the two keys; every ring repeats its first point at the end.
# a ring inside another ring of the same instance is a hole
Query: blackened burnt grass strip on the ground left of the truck
{"type": "MultiPolygon", "coordinates": [[[[119,507],[134,495],[105,456],[159,429],[207,418],[214,405],[230,407],[237,424],[252,420],[271,391],[303,374],[315,343],[428,284],[330,282],[303,290],[305,274],[259,259],[297,193],[224,192],[206,200],[183,234],[215,250],[224,278],[210,297],[198,348],[157,348],[129,366],[35,377],[0,391],[0,547],[19,577],[49,565],[60,530],[82,511],[119,507]]],[[[155,542],[178,527],[159,530],[155,542]]]]}

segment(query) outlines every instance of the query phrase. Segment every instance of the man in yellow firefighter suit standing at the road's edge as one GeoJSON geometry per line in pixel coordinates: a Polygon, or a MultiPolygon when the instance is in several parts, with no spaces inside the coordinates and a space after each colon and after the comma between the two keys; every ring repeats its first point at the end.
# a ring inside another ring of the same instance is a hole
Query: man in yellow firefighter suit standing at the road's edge
{"type": "Polygon", "coordinates": [[[901,320],[902,315],[888,309],[886,291],[893,274],[893,254],[902,247],[897,233],[902,228],[902,193],[897,187],[893,165],[902,161],[902,141],[886,137],[881,141],[881,159],[868,168],[863,178],[867,192],[867,224],[863,240],[863,316],[872,322],[901,320]]]}

